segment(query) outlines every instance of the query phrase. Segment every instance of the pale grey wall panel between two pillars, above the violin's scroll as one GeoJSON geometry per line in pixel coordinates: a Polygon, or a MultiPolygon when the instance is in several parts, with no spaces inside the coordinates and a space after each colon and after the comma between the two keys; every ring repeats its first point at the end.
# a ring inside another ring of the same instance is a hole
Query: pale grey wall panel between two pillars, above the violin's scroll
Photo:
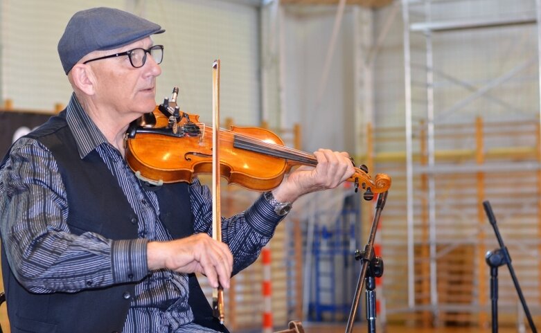
{"type": "Polygon", "coordinates": [[[355,147],[353,12],[351,8],[344,12],[327,78],[323,67],[335,6],[286,8],[284,14],[284,118],[301,123],[304,150],[328,147],[351,152],[355,147]]]}

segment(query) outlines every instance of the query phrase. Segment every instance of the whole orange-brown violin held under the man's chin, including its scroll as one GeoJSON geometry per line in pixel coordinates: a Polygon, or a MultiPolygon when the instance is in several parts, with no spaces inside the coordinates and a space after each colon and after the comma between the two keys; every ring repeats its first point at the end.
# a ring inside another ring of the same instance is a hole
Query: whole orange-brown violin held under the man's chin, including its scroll
{"type": "MultiPolygon", "coordinates": [[[[136,176],[154,185],[191,182],[197,174],[212,173],[212,128],[199,116],[180,111],[178,88],[152,112],[135,120],[125,134],[126,161],[136,176]]],[[[276,134],[259,127],[220,129],[220,174],[228,183],[256,191],[276,188],[296,165],[317,165],[314,154],[286,147],[276,134]]],[[[353,161],[352,161],[353,163],[353,161]]],[[[373,180],[366,166],[348,179],[361,186],[364,199],[391,186],[387,174],[373,180]]]]}

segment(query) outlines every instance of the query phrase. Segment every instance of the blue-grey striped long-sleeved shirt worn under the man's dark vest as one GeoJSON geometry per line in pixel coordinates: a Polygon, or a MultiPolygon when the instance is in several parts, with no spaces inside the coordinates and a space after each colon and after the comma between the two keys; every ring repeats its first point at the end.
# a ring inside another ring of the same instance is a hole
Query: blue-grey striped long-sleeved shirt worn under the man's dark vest
{"type": "MultiPolygon", "coordinates": [[[[213,332],[192,323],[186,274],[165,269],[148,271],[146,243],[171,240],[159,220],[154,192],[141,187],[120,152],[107,143],[75,94],[66,117],[80,158],[96,150],[118,180],[139,217],[139,239],[110,240],[96,233],[70,233],[66,224],[66,191],[53,155],[38,141],[19,139],[0,170],[1,233],[10,267],[19,282],[29,291],[48,293],[139,280],[123,332],[213,332]]],[[[195,179],[189,190],[195,232],[211,235],[209,188],[195,179]]],[[[281,218],[263,196],[245,212],[222,218],[222,241],[233,253],[233,271],[256,260],[281,218]]]]}

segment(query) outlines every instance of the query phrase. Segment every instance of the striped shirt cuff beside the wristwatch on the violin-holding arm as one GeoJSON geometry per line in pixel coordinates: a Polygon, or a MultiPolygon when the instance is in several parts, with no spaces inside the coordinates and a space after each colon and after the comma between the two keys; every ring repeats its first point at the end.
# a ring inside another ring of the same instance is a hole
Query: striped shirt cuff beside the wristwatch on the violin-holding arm
{"type": "Polygon", "coordinates": [[[245,212],[246,221],[254,227],[258,233],[265,237],[272,237],[274,230],[284,216],[276,214],[274,206],[263,195],[254,202],[245,212]]]}

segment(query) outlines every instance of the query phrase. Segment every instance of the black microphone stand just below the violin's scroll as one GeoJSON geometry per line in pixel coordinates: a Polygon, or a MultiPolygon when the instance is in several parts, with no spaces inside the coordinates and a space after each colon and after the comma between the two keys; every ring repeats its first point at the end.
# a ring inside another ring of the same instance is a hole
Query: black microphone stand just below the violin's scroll
{"type": "Polygon", "coordinates": [[[356,251],[355,259],[362,260],[362,268],[357,280],[357,289],[355,289],[355,297],[353,298],[353,304],[351,305],[351,311],[349,313],[348,324],[346,325],[346,333],[351,333],[353,330],[353,322],[355,321],[355,315],[359,308],[359,302],[361,298],[361,291],[366,278],[366,319],[368,321],[368,330],[371,333],[375,333],[375,276],[382,276],[383,274],[383,262],[381,258],[374,256],[374,240],[375,232],[378,229],[378,223],[380,222],[381,212],[387,201],[388,192],[382,192],[378,196],[378,203],[375,206],[375,214],[370,229],[369,241],[364,246],[364,251],[356,251]],[[369,276],[367,276],[369,273],[369,276]]]}

